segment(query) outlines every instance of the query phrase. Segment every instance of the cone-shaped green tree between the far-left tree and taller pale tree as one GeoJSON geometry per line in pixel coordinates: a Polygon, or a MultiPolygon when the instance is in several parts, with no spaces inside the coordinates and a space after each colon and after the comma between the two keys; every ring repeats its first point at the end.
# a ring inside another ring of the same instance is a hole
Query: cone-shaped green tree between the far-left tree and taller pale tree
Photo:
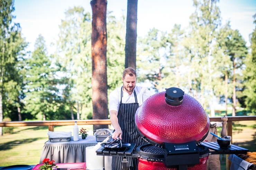
{"type": "Polygon", "coordinates": [[[55,69],[51,56],[47,56],[45,40],[39,35],[35,42],[35,50],[27,59],[26,67],[26,109],[34,116],[48,116],[58,106],[58,88],[55,83],[55,69]]]}

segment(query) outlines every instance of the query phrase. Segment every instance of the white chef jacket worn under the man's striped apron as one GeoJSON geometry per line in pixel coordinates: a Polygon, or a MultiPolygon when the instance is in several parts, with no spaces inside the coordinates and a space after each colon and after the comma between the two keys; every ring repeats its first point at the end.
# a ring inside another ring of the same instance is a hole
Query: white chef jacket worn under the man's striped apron
{"type": "MultiPolygon", "coordinates": [[[[135,86],[134,90],[136,92],[139,106],[145,100],[147,100],[147,98],[149,98],[154,94],[154,92],[149,91],[146,87],[135,86]]],[[[109,94],[109,111],[116,110],[118,112],[120,101],[121,101],[121,86],[109,94]]],[[[129,96],[129,94],[123,90],[122,103],[135,103],[134,92],[132,92],[131,96],[129,96]]]]}

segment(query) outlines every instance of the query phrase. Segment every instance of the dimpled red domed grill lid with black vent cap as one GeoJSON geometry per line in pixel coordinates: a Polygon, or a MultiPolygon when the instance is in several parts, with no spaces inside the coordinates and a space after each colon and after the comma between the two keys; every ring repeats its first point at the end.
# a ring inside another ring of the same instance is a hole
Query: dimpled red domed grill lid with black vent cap
{"type": "Polygon", "coordinates": [[[136,129],[152,144],[203,141],[210,119],[201,104],[179,88],[150,96],[136,111],[136,129]]]}

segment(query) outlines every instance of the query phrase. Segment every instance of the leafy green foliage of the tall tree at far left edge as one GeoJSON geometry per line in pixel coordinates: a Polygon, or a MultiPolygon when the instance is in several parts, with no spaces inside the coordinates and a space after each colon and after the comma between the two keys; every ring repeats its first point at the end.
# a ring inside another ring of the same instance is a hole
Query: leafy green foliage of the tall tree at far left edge
{"type": "MultiPolygon", "coordinates": [[[[12,23],[14,11],[12,0],[0,1],[0,118],[8,115],[10,110],[17,113],[17,108],[22,109],[21,99],[24,97],[23,61],[27,43],[21,37],[19,24],[12,23]]],[[[17,114],[13,120],[17,119],[17,114]]]]}

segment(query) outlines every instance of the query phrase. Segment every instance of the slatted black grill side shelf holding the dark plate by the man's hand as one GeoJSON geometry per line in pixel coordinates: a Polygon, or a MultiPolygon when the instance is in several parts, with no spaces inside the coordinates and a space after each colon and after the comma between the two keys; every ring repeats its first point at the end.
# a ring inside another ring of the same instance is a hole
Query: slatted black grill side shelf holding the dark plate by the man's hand
{"type": "Polygon", "coordinates": [[[132,157],[132,151],[135,148],[135,143],[131,143],[131,146],[127,148],[104,148],[100,147],[96,150],[97,155],[101,156],[124,156],[132,157]]]}

